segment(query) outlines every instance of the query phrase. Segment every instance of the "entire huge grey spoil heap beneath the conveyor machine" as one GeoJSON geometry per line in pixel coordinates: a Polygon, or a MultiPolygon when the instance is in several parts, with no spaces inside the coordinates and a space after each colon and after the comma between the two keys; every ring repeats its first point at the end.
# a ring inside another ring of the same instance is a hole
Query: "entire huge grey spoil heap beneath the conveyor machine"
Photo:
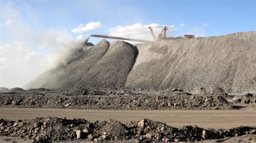
{"type": "Polygon", "coordinates": [[[25,88],[77,86],[256,91],[256,32],[131,45],[100,41],[68,65],[46,71],[25,88]]]}

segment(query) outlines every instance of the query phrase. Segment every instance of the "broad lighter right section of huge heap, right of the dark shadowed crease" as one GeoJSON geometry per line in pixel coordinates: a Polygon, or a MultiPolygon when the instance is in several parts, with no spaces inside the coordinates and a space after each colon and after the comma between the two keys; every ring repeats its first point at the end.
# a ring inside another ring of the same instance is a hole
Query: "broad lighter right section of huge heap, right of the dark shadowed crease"
{"type": "Polygon", "coordinates": [[[256,91],[255,39],[254,31],[138,44],[139,54],[126,86],[256,91]]]}

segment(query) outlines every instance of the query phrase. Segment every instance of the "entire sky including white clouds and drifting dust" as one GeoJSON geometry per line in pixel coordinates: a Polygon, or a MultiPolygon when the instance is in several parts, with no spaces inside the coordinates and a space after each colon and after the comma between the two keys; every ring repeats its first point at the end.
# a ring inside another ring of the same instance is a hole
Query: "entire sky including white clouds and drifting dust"
{"type": "Polygon", "coordinates": [[[91,34],[153,40],[147,27],[163,25],[168,37],[255,31],[256,0],[0,1],[0,86],[24,85],[91,34]]]}

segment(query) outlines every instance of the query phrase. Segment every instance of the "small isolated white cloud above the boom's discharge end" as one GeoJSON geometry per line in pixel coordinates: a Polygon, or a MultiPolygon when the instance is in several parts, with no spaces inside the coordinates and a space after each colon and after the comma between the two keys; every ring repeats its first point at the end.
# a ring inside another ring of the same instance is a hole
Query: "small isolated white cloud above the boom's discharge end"
{"type": "Polygon", "coordinates": [[[89,22],[85,26],[83,24],[79,24],[77,28],[72,29],[73,33],[82,33],[90,30],[104,29],[105,26],[101,25],[100,22],[89,22]]]}

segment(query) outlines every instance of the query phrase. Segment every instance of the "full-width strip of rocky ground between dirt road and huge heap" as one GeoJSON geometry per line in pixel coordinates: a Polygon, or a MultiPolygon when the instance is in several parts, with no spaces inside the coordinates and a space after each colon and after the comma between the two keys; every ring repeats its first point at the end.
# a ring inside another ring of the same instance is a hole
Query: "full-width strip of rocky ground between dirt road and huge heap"
{"type": "MultiPolygon", "coordinates": [[[[140,91],[140,90],[138,90],[140,91]]],[[[15,108],[78,108],[107,110],[230,110],[233,103],[256,105],[255,95],[243,97],[215,91],[168,89],[152,94],[123,89],[89,90],[83,87],[70,91],[31,89],[0,92],[0,105],[15,108]],[[227,100],[231,100],[231,103],[227,100]]]]}

